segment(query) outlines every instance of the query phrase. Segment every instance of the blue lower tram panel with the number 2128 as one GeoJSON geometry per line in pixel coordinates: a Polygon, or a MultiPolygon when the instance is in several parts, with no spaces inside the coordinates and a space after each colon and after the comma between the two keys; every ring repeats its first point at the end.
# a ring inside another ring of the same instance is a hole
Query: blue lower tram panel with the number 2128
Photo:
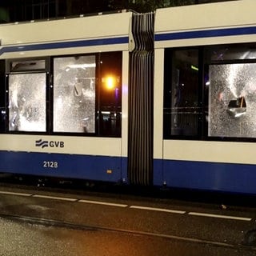
{"type": "Polygon", "coordinates": [[[119,182],[126,159],[79,154],[0,151],[0,172],[119,182]]]}

